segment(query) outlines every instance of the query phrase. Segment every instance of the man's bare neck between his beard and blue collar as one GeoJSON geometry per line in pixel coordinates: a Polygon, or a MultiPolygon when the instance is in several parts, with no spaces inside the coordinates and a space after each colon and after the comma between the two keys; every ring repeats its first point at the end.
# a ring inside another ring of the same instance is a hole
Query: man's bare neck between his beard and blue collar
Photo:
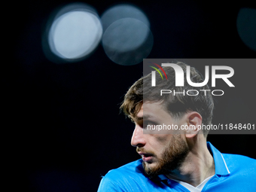
{"type": "Polygon", "coordinates": [[[212,175],[215,175],[215,163],[205,142],[204,145],[191,148],[181,166],[166,176],[197,187],[212,175]]]}

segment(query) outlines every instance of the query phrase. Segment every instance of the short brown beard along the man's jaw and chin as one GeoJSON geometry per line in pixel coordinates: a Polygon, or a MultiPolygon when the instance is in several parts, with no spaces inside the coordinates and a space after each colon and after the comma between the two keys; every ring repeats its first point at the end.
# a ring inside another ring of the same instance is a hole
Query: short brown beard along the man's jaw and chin
{"type": "MultiPolygon", "coordinates": [[[[156,166],[149,167],[149,165],[146,165],[146,162],[142,163],[145,173],[149,178],[154,178],[157,175],[168,175],[172,170],[181,166],[184,158],[187,157],[189,149],[187,143],[181,139],[181,136],[172,136],[171,141],[169,146],[166,146],[161,157],[157,157],[156,166]]],[[[156,156],[154,155],[154,157],[156,156]]]]}

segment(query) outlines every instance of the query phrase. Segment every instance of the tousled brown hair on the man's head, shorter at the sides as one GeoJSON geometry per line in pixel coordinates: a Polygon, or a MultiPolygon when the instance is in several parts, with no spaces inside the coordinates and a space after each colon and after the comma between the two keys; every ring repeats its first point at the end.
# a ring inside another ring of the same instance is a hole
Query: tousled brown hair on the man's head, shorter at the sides
{"type": "MultiPolygon", "coordinates": [[[[181,66],[184,73],[187,73],[187,65],[184,62],[176,62],[178,66],[181,66]]],[[[209,86],[206,84],[203,87],[192,87],[187,84],[187,79],[184,75],[184,87],[175,87],[175,71],[172,67],[163,67],[166,72],[168,80],[160,77],[156,73],[157,86],[151,86],[151,74],[140,78],[133,84],[132,87],[127,91],[124,96],[124,100],[120,109],[123,110],[124,114],[129,117],[134,117],[142,106],[142,102],[162,102],[172,117],[182,117],[188,111],[197,111],[203,117],[203,124],[209,125],[212,123],[212,111],[214,108],[214,102],[212,99],[212,93],[209,90],[209,86]],[[163,94],[160,96],[160,90],[175,90],[175,96],[173,94],[163,94]],[[190,95],[194,94],[197,96],[188,96],[187,90],[190,90],[190,95]],[[193,91],[194,90],[194,91],[193,91]],[[197,90],[197,91],[195,91],[197,90]],[[181,92],[185,91],[185,94],[181,92]],[[198,94],[197,94],[198,93],[198,94]]],[[[190,79],[194,83],[203,82],[203,77],[197,69],[190,67],[190,79]]],[[[204,136],[207,136],[209,130],[203,130],[204,136]]]]}

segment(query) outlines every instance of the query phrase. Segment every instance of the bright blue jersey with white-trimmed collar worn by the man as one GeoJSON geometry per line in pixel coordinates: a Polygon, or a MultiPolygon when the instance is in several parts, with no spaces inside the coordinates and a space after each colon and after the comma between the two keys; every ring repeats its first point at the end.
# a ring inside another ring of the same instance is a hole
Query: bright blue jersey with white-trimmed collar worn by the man
{"type": "MultiPolygon", "coordinates": [[[[210,142],[209,151],[215,161],[215,175],[207,181],[202,191],[256,192],[256,160],[237,154],[221,154],[210,142]]],[[[145,175],[142,159],[110,170],[99,184],[102,191],[186,191],[178,182],[160,175],[151,180],[145,175]]]]}

